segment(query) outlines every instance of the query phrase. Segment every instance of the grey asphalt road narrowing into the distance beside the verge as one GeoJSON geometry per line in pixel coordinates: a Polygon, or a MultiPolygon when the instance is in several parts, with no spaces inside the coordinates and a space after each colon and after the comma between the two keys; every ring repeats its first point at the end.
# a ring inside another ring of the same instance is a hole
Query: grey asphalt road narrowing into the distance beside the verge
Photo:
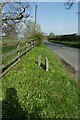
{"type": "Polygon", "coordinates": [[[67,47],[63,44],[51,43],[45,40],[43,42],[48,48],[55,52],[59,57],[64,59],[68,64],[70,64],[76,71],[78,71],[78,49],[67,47]]]}

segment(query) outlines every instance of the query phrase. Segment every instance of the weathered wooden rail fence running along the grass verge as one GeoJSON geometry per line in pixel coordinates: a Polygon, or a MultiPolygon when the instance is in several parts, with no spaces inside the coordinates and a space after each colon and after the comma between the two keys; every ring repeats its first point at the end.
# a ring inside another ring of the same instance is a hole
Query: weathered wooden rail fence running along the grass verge
{"type": "Polygon", "coordinates": [[[16,48],[2,54],[2,64],[0,65],[0,77],[5,75],[20,59],[26,55],[32,48],[36,46],[36,40],[24,41],[24,45],[20,44],[20,41],[16,42],[16,48]],[[11,57],[10,60],[8,60],[11,57]],[[7,62],[5,62],[7,61],[7,62]]]}

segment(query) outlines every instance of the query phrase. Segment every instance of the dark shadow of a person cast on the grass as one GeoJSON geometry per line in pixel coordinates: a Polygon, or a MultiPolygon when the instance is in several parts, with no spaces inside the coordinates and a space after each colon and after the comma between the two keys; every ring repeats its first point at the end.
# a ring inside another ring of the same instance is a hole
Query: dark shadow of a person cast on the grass
{"type": "Polygon", "coordinates": [[[26,113],[18,102],[17,91],[14,88],[6,90],[6,98],[2,101],[2,111],[2,120],[14,120],[16,117],[18,119],[26,118],[26,113]]]}

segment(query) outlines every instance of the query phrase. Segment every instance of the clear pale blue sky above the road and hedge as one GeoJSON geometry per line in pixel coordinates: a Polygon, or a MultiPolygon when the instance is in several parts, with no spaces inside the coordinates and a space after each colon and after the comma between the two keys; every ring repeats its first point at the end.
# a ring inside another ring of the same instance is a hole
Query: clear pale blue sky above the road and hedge
{"type": "Polygon", "coordinates": [[[32,16],[37,4],[37,23],[45,33],[55,34],[78,33],[78,3],[74,3],[70,10],[64,7],[65,2],[31,2],[32,16]]]}

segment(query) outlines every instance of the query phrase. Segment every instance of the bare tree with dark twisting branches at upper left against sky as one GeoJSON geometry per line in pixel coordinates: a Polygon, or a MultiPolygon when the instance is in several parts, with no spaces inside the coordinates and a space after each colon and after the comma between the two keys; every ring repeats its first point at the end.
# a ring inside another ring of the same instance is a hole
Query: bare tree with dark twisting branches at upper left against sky
{"type": "Polygon", "coordinates": [[[0,30],[6,32],[6,35],[10,30],[14,31],[14,27],[19,22],[24,22],[30,17],[30,5],[28,2],[10,2],[10,0],[5,0],[5,2],[0,3],[0,10],[2,9],[2,24],[0,30]]]}

